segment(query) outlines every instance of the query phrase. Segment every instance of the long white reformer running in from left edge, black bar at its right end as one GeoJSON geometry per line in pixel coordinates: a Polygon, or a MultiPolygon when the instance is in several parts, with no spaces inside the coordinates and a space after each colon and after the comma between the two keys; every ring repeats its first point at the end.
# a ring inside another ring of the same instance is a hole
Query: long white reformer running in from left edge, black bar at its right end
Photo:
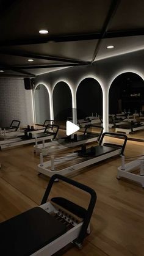
{"type": "Polygon", "coordinates": [[[25,132],[23,136],[17,136],[13,139],[6,139],[3,141],[0,141],[0,149],[2,150],[3,148],[31,144],[31,143],[34,143],[35,141],[37,144],[38,141],[43,141],[43,139],[45,140],[55,139],[58,131],[59,131],[58,125],[47,125],[43,133],[41,132],[41,130],[39,131],[39,133],[33,133],[32,131],[28,133],[25,132]],[[54,129],[56,129],[56,131],[54,131],[54,129]]]}

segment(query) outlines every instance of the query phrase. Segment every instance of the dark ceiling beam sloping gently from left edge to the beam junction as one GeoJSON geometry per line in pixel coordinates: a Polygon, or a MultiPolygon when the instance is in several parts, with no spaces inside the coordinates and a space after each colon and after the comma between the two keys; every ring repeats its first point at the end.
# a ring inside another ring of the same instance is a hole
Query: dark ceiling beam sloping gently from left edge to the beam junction
{"type": "Polygon", "coordinates": [[[6,51],[1,50],[1,54],[18,56],[18,57],[27,57],[27,58],[34,58],[34,59],[45,59],[45,60],[53,60],[53,61],[61,61],[61,62],[68,62],[68,63],[77,63],[77,64],[85,64],[85,61],[77,60],[77,59],[67,59],[63,57],[56,57],[56,56],[45,56],[41,54],[32,54],[32,53],[16,53],[15,51],[6,51]]]}

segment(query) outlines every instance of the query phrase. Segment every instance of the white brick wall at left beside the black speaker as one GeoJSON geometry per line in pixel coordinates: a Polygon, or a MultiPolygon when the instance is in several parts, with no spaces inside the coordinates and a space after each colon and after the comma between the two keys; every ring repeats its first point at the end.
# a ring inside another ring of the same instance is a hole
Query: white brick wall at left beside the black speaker
{"type": "Polygon", "coordinates": [[[20,120],[20,126],[32,125],[31,90],[24,89],[23,79],[0,78],[0,127],[13,119],[20,120]]]}

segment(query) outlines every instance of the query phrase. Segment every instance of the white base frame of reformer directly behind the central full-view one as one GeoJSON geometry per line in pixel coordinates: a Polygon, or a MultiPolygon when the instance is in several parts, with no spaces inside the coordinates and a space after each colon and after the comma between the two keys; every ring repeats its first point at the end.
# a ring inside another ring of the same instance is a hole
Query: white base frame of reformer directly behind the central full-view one
{"type": "Polygon", "coordinates": [[[34,145],[34,152],[35,153],[42,153],[43,156],[47,156],[48,153],[52,153],[52,152],[57,152],[60,150],[64,150],[66,147],[70,148],[70,147],[76,147],[78,145],[81,144],[87,144],[90,142],[96,142],[98,139],[97,137],[92,137],[90,139],[84,139],[82,141],[76,141],[76,142],[65,142],[65,144],[60,145],[60,140],[59,141],[51,141],[51,142],[47,142],[45,144],[45,146],[43,147],[43,144],[38,144],[38,145],[34,145]]]}

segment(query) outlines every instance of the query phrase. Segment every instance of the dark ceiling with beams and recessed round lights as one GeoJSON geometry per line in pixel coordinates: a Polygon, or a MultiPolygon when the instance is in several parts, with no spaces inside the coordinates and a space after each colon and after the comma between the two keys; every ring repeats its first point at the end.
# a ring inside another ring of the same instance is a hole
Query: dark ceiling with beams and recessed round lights
{"type": "Polygon", "coordinates": [[[140,51],[143,13],[143,0],[0,0],[0,76],[34,77],[140,51]]]}

